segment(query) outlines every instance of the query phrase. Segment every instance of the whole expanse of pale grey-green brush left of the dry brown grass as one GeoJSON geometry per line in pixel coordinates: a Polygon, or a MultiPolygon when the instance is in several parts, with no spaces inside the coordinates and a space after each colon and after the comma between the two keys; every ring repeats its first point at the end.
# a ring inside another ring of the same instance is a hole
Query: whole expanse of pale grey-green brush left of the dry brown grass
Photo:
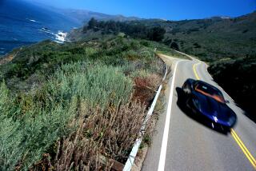
{"type": "Polygon", "coordinates": [[[13,169],[21,159],[25,169],[38,161],[58,137],[75,129],[77,123],[69,123],[84,114],[80,105],[98,106],[104,112],[108,106],[126,104],[132,89],[132,80],[121,70],[88,63],[61,66],[42,89],[32,89],[15,101],[2,83],[2,169],[13,169]]]}

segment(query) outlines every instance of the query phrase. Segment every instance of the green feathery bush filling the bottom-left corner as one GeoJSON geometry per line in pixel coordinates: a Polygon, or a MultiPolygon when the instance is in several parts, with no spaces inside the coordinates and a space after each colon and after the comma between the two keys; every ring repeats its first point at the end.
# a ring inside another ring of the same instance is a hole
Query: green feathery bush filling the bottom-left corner
{"type": "MultiPolygon", "coordinates": [[[[10,101],[10,97],[6,100],[10,101]]],[[[50,105],[54,107],[34,105],[22,115],[22,109],[14,101],[6,104],[5,113],[0,113],[1,170],[14,170],[15,166],[17,169],[28,169],[58,137],[69,133],[66,124],[74,118],[76,99],[65,107],[56,103],[46,104],[50,105]]]]}

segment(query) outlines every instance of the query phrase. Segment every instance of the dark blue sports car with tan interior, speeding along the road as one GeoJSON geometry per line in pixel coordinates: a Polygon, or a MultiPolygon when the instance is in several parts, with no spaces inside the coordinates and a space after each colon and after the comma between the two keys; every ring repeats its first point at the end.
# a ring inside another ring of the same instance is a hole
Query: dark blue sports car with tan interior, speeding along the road
{"type": "Polygon", "coordinates": [[[186,94],[186,106],[194,113],[207,117],[213,125],[221,125],[229,130],[237,120],[237,116],[226,103],[222,92],[206,82],[187,79],[182,85],[186,94]]]}

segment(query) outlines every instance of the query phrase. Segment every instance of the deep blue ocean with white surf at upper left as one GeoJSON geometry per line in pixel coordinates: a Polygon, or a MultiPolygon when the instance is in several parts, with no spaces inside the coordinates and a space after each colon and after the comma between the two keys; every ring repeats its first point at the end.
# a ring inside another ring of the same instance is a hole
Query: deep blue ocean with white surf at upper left
{"type": "Polygon", "coordinates": [[[57,40],[80,23],[46,6],[22,0],[0,0],[0,56],[19,46],[57,40]]]}

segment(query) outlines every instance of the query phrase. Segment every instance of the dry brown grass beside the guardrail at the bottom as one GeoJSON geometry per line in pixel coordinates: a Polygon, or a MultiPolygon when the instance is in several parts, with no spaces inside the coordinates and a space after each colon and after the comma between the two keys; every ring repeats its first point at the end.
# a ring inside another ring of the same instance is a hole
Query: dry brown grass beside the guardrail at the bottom
{"type": "Polygon", "coordinates": [[[139,135],[146,115],[145,105],[131,101],[101,109],[80,106],[78,129],[56,143],[54,156],[44,154],[34,170],[110,170],[110,159],[124,162],[139,135]]]}

